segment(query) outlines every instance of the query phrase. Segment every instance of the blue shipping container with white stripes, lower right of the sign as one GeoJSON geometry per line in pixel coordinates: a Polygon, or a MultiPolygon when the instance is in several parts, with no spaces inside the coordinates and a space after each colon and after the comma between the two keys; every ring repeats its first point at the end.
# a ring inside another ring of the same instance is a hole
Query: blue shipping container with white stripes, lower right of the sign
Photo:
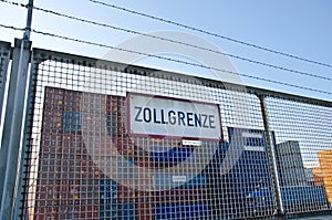
{"type": "MultiPolygon", "coordinates": [[[[251,202],[247,196],[261,187],[272,189],[264,132],[228,127],[228,139],[219,145],[219,157],[214,157],[205,171],[208,174],[211,214],[226,219],[259,216],[249,207],[251,202]],[[237,159],[225,172],[226,157],[237,159]]],[[[273,202],[264,207],[264,213],[272,213],[274,209],[273,202]]]]}

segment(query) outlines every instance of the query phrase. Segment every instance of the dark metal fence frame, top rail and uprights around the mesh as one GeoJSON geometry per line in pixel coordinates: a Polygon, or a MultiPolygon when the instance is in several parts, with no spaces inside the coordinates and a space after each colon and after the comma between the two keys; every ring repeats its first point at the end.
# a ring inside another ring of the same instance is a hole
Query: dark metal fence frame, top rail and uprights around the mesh
{"type": "MultiPolygon", "coordinates": [[[[10,48],[10,44],[8,43],[1,43],[0,42],[0,48],[1,44],[4,45],[4,48],[10,48]]],[[[7,54],[9,57],[9,54],[7,54]]],[[[35,91],[37,91],[37,76],[38,76],[38,71],[39,71],[39,64],[41,62],[48,61],[48,60],[56,60],[59,62],[62,62],[62,60],[71,61],[72,63],[82,65],[82,66],[91,66],[91,67],[97,67],[96,63],[101,63],[100,60],[97,59],[92,59],[92,57],[85,57],[85,56],[80,56],[80,55],[73,55],[69,53],[61,53],[61,52],[55,52],[55,51],[49,51],[49,50],[42,50],[42,49],[33,49],[32,50],[32,65],[31,65],[31,76],[28,80],[28,83],[30,84],[29,87],[29,94],[28,94],[28,106],[27,106],[27,114],[25,114],[25,126],[24,126],[24,144],[23,144],[23,150],[21,155],[21,163],[20,163],[20,178],[19,178],[19,188],[18,188],[18,198],[15,199],[15,218],[24,218],[27,217],[27,213],[24,213],[25,210],[25,196],[27,196],[27,186],[29,181],[29,164],[30,161],[27,159],[29,156],[29,145],[31,142],[31,134],[32,134],[32,128],[31,128],[31,122],[33,121],[33,109],[34,109],[34,96],[35,96],[35,91]],[[21,210],[21,211],[20,211],[21,210]]],[[[178,74],[178,73],[170,73],[170,72],[163,72],[154,69],[147,69],[147,67],[142,67],[142,66],[135,66],[135,65],[128,65],[124,63],[116,63],[116,62],[110,62],[110,61],[103,61],[105,64],[111,65],[114,70],[117,70],[118,72],[125,72],[134,75],[142,75],[142,76],[149,76],[149,77],[156,77],[156,78],[168,78],[168,80],[179,80],[185,83],[193,83],[186,75],[178,74]],[[158,72],[158,74],[155,74],[158,72]]],[[[7,66],[6,66],[7,67],[7,66]]],[[[276,202],[278,207],[278,213],[276,216],[284,216],[284,208],[282,205],[282,199],[281,199],[281,192],[280,192],[280,186],[279,186],[279,178],[278,178],[278,171],[277,171],[277,165],[276,165],[276,153],[273,149],[273,143],[272,143],[272,137],[271,137],[271,129],[269,125],[269,113],[268,113],[268,107],[266,104],[266,98],[267,97],[273,97],[273,98],[281,98],[286,101],[291,101],[295,103],[305,103],[310,105],[315,105],[315,106],[322,106],[322,107],[332,107],[332,102],[328,101],[321,101],[321,99],[315,99],[315,98],[310,98],[310,97],[304,97],[304,96],[299,96],[299,95],[291,95],[287,93],[280,93],[280,92],[274,92],[274,91],[269,91],[269,90],[263,90],[263,88],[257,88],[257,87],[251,87],[251,86],[242,86],[242,85],[237,85],[237,84],[231,84],[231,83],[224,83],[224,82],[218,82],[214,80],[207,80],[203,77],[197,77],[195,78],[203,82],[203,85],[209,88],[218,88],[218,90],[230,90],[230,91],[236,91],[239,93],[243,94],[251,94],[257,96],[260,107],[261,107],[261,116],[263,119],[263,128],[266,132],[266,139],[267,144],[269,147],[269,154],[270,154],[270,167],[271,167],[271,175],[272,175],[272,180],[273,180],[273,187],[274,187],[274,195],[276,195],[276,202]]],[[[1,83],[1,82],[0,82],[1,83]]],[[[1,88],[1,87],[0,87],[1,88]]],[[[331,209],[326,210],[328,213],[331,213],[331,209]]],[[[322,212],[320,212],[322,213],[322,212]]],[[[301,213],[297,213],[301,214],[301,213]]]]}

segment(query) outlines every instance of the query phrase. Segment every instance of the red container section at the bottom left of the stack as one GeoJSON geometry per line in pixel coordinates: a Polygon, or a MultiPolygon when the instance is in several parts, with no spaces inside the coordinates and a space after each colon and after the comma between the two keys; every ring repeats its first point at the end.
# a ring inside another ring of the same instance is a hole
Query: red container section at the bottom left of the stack
{"type": "Polygon", "coordinates": [[[98,219],[94,180],[49,179],[38,182],[34,219],[98,219]]]}

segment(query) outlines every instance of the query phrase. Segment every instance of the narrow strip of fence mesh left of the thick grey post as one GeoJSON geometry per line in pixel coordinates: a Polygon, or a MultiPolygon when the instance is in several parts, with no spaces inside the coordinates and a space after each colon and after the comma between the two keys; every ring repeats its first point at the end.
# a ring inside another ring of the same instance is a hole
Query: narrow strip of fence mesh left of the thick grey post
{"type": "Polygon", "coordinates": [[[7,82],[8,65],[10,61],[10,43],[0,41],[0,124],[7,82]]]}

